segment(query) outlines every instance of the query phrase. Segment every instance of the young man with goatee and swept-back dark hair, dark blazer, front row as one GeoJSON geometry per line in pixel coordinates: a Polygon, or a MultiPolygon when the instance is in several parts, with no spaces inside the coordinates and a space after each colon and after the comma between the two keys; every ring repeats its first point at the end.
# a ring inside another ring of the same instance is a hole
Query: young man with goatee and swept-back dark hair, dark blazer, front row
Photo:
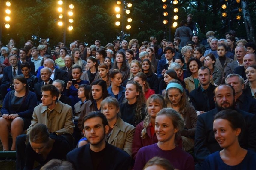
{"type": "Polygon", "coordinates": [[[109,126],[103,113],[90,112],[83,118],[82,126],[84,136],[89,143],[67,154],[67,161],[71,162],[75,169],[126,170],[130,168],[129,154],[105,141],[109,126]]]}

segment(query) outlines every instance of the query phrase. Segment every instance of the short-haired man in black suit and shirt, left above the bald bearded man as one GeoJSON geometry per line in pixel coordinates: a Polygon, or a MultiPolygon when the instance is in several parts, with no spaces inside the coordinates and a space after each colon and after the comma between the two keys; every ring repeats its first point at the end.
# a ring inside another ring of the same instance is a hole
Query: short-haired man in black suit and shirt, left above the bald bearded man
{"type": "Polygon", "coordinates": [[[190,92],[189,98],[197,115],[200,115],[215,108],[213,91],[216,86],[210,83],[212,75],[208,67],[203,66],[198,70],[198,79],[201,85],[190,92]]]}

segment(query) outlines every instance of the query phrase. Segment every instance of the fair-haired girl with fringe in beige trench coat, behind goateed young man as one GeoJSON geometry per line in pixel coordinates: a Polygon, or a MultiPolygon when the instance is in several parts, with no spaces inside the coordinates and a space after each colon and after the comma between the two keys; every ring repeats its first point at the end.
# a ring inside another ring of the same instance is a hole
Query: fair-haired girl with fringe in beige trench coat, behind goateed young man
{"type": "Polygon", "coordinates": [[[117,148],[123,149],[131,156],[135,128],[120,118],[120,108],[117,99],[107,97],[101,102],[100,107],[102,113],[108,120],[109,130],[106,134],[107,142],[117,148]]]}

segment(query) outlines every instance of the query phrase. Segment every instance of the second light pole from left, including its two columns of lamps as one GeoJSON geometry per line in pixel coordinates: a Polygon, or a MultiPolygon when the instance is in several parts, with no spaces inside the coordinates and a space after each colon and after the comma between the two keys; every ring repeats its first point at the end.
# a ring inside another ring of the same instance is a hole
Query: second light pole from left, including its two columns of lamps
{"type": "Polygon", "coordinates": [[[58,12],[59,12],[58,25],[59,26],[64,25],[64,28],[63,28],[63,42],[64,42],[64,44],[66,44],[66,29],[68,29],[69,31],[73,30],[72,23],[74,22],[74,19],[72,19],[72,16],[73,16],[73,11],[72,10],[74,9],[74,5],[70,4],[69,8],[68,8],[67,0],[65,0],[64,4],[63,4],[62,0],[59,0],[58,5],[59,5],[58,6],[58,12]],[[63,6],[64,6],[64,10],[63,10],[63,6]],[[67,18],[68,18],[68,21],[69,21],[68,28],[66,28],[67,18]]]}

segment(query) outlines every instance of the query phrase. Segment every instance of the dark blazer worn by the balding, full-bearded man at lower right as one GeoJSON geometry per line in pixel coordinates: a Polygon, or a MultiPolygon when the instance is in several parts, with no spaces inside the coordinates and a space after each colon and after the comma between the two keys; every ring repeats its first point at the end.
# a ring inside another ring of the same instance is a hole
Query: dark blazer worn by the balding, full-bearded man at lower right
{"type": "MultiPolygon", "coordinates": [[[[237,111],[242,114],[246,124],[244,133],[239,138],[239,144],[242,148],[256,151],[256,117],[254,114],[242,110],[237,111]]],[[[214,116],[218,112],[217,108],[214,108],[198,116],[194,151],[200,164],[209,154],[222,150],[215,140],[212,130],[214,116]]]]}

